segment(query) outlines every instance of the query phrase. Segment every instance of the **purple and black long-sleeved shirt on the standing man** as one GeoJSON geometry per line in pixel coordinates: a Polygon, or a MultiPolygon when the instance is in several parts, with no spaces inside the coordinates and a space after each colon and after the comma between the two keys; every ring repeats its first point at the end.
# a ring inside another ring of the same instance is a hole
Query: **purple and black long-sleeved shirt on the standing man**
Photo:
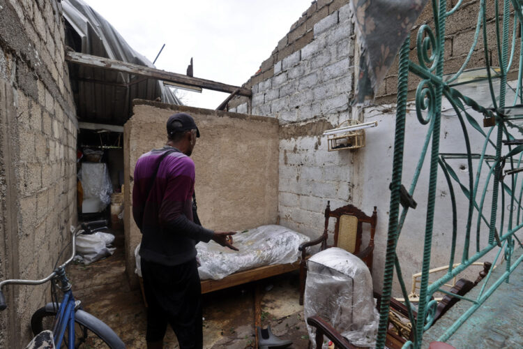
{"type": "Polygon", "coordinates": [[[209,242],[213,231],[192,222],[195,163],[178,149],[165,146],[140,156],[132,189],[132,216],[142,231],[139,255],[162,265],[179,265],[196,257],[195,245],[209,242]],[[165,151],[149,198],[146,191],[165,151]]]}

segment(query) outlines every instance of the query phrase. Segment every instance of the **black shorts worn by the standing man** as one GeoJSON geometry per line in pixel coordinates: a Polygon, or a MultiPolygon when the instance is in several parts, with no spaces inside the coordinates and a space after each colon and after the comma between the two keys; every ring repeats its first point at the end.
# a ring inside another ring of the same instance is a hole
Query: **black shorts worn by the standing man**
{"type": "Polygon", "coordinates": [[[202,348],[202,287],[196,259],[167,266],[142,258],[150,342],[161,341],[169,323],[181,349],[202,348]]]}

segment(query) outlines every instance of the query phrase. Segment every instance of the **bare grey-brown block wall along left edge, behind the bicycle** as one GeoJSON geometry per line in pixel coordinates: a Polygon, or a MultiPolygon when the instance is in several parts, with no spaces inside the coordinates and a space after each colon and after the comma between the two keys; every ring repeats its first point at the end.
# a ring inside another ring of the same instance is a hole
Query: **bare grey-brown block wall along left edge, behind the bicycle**
{"type": "MultiPolygon", "coordinates": [[[[56,0],[0,0],[0,279],[52,272],[76,216],[76,114],[56,0]]],[[[49,284],[8,286],[0,348],[23,348],[49,284]]]]}

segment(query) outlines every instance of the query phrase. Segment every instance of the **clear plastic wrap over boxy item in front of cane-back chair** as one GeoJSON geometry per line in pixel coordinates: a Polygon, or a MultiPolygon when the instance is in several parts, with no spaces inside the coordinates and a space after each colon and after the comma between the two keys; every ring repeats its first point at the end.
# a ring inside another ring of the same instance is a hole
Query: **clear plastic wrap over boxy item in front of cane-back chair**
{"type": "MultiPolygon", "coordinates": [[[[307,262],[303,313],[319,315],[355,346],[374,348],[379,313],[367,265],[342,248],[327,248],[307,262]]],[[[307,325],[315,348],[315,329],[307,325]]],[[[324,346],[324,348],[327,348],[324,346]]]]}

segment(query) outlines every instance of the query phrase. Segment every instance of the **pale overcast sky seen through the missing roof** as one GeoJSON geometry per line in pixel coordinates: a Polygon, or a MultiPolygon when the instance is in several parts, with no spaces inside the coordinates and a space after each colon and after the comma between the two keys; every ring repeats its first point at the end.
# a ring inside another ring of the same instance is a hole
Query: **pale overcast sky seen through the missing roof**
{"type": "MultiPolygon", "coordinates": [[[[311,0],[84,0],[156,68],[241,86],[271,56],[311,0]]],[[[228,93],[181,91],[185,105],[215,109],[228,93]]]]}

